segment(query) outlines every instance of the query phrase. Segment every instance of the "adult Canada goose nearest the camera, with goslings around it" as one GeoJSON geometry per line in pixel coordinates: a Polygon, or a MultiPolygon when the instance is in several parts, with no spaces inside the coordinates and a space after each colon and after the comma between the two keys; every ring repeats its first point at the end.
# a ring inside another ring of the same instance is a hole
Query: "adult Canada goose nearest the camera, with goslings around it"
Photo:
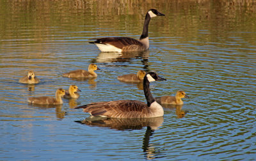
{"type": "Polygon", "coordinates": [[[158,104],[152,96],[149,83],[151,81],[165,80],[154,72],[149,72],[143,80],[143,90],[147,99],[147,104],[141,101],[120,100],[109,102],[95,102],[78,106],[83,108],[84,112],[93,116],[106,116],[108,118],[150,118],[164,115],[163,107],[158,104]]]}

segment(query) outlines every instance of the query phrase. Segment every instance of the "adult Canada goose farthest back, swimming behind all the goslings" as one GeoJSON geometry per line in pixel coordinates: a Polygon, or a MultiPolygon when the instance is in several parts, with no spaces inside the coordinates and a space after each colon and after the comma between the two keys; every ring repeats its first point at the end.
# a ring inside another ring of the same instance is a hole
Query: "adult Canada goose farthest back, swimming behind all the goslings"
{"type": "Polygon", "coordinates": [[[139,40],[127,37],[99,38],[96,41],[89,42],[98,46],[101,52],[136,52],[145,51],[149,48],[148,24],[152,17],[164,16],[156,9],[147,11],[143,31],[139,40]]]}

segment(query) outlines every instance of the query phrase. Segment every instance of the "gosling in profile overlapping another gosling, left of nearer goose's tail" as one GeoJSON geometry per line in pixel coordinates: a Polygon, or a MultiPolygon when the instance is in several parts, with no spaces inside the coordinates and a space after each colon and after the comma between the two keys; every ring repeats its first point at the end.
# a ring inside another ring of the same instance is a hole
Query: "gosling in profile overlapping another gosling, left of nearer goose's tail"
{"type": "Polygon", "coordinates": [[[56,90],[55,98],[48,96],[29,97],[28,102],[32,104],[63,104],[61,97],[65,95],[65,90],[59,88],[56,90]]]}

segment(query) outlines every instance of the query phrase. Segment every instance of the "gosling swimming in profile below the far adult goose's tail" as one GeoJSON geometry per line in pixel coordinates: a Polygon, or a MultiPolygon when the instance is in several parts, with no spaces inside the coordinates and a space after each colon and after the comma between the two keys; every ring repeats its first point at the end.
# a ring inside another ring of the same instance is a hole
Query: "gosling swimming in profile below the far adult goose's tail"
{"type": "Polygon", "coordinates": [[[92,78],[97,77],[97,74],[94,72],[95,70],[100,70],[96,64],[90,64],[88,66],[88,71],[83,69],[79,69],[76,71],[70,71],[68,73],[62,74],[62,76],[67,76],[68,78],[92,78]]]}

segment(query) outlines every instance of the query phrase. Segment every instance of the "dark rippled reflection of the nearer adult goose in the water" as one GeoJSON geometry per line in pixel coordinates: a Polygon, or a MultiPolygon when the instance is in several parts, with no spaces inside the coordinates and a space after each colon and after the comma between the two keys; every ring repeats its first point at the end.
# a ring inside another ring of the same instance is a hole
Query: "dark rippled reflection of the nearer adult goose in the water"
{"type": "Polygon", "coordinates": [[[115,130],[141,130],[147,127],[145,136],[143,138],[143,153],[148,160],[158,158],[161,151],[156,150],[154,144],[150,144],[150,138],[154,131],[159,129],[163,124],[164,118],[106,118],[100,116],[90,116],[77,123],[93,126],[93,127],[107,127],[115,130]]]}

